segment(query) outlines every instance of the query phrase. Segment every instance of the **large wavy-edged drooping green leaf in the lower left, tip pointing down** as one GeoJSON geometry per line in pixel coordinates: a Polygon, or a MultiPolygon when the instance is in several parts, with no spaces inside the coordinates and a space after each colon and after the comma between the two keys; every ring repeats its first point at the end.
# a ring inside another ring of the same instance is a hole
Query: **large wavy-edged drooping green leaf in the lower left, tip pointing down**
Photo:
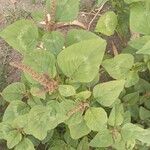
{"type": "Polygon", "coordinates": [[[47,136],[50,121],[54,117],[50,117],[51,108],[45,106],[34,106],[28,114],[28,129],[25,131],[33,135],[39,140],[43,140],[47,136]]]}

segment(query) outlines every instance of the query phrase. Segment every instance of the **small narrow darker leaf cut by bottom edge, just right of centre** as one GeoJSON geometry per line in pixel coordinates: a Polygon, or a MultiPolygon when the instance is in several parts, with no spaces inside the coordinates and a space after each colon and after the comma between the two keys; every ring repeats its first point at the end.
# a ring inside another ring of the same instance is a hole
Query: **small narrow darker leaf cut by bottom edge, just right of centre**
{"type": "Polygon", "coordinates": [[[89,142],[88,142],[88,138],[87,137],[84,137],[78,147],[77,147],[77,150],[89,150],[89,142]]]}

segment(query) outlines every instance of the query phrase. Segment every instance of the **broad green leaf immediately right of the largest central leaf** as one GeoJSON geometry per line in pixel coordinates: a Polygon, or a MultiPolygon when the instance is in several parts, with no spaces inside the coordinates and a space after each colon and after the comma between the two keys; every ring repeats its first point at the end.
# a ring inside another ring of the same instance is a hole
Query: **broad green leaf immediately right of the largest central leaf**
{"type": "Polygon", "coordinates": [[[102,66],[114,79],[125,79],[134,64],[131,54],[119,54],[112,59],[106,59],[102,66]]]}

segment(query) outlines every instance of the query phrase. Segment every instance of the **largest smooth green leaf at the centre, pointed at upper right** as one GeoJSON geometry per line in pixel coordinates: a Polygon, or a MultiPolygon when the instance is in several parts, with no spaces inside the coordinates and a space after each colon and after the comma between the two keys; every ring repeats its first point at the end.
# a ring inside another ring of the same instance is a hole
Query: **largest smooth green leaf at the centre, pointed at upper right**
{"type": "Polygon", "coordinates": [[[63,50],[57,58],[62,72],[78,82],[92,81],[99,71],[106,42],[92,39],[79,42],[63,50]]]}

